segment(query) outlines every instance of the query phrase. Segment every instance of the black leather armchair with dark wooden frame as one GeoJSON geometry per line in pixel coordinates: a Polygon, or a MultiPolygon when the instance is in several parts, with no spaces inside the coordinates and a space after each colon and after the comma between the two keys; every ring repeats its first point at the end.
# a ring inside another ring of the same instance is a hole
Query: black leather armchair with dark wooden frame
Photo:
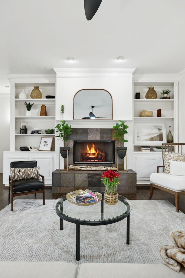
{"type": "MultiPolygon", "coordinates": [[[[30,161],[13,161],[10,163],[10,168],[34,168],[37,167],[36,160],[30,161]]],[[[10,199],[10,190],[12,193],[12,211],[13,202],[15,196],[27,195],[35,193],[43,194],[43,205],[45,205],[45,184],[44,176],[39,173],[42,180],[38,179],[24,179],[24,180],[13,180],[12,176],[9,175],[9,192],[8,198],[10,199]]]]}

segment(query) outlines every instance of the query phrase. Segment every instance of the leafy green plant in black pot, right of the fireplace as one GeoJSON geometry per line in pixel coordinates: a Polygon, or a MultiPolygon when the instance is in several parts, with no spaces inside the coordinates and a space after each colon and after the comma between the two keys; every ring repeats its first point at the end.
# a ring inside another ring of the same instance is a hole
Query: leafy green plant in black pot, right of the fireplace
{"type": "Polygon", "coordinates": [[[128,142],[128,140],[125,140],[124,136],[127,132],[127,129],[129,128],[128,125],[125,125],[125,122],[123,122],[122,120],[119,120],[120,123],[116,122],[116,125],[113,126],[113,129],[115,130],[115,135],[113,135],[113,137],[117,138],[117,140],[119,140],[119,145],[120,147],[117,147],[117,151],[118,151],[118,156],[119,158],[124,158],[126,155],[126,150],[127,147],[124,147],[124,143],[128,142]],[[125,150],[125,151],[122,151],[125,150]]]}

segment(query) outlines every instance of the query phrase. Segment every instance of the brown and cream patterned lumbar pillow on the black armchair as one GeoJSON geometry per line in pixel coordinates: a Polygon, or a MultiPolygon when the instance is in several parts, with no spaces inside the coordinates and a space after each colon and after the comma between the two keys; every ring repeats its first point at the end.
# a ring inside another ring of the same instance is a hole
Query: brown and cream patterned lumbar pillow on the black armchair
{"type": "Polygon", "coordinates": [[[39,179],[39,167],[34,168],[10,168],[14,180],[39,179]]]}

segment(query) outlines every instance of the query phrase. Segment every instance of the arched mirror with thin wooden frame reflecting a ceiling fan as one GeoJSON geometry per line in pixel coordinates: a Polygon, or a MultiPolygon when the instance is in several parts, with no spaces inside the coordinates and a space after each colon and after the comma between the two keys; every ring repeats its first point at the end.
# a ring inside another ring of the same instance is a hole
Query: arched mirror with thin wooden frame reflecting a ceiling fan
{"type": "Polygon", "coordinates": [[[112,96],[103,89],[82,89],[73,98],[73,120],[112,120],[112,96]]]}

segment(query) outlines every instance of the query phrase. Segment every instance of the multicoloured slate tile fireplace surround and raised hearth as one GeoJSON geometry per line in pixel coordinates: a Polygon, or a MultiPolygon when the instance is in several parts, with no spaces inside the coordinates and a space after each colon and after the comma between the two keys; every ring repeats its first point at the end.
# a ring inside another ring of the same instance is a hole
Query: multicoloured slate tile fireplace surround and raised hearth
{"type": "MultiPolygon", "coordinates": [[[[73,144],[74,140],[114,140],[112,137],[114,129],[109,128],[73,128],[73,133],[69,136],[67,146],[70,147],[69,164],[73,164],[73,144]]],[[[115,163],[114,164],[75,164],[88,166],[112,166],[117,167],[115,141],[115,163]]],[[[118,168],[122,167],[122,160],[118,161],[118,168]]],[[[77,189],[90,189],[92,191],[104,191],[105,186],[101,181],[102,171],[76,171],[60,172],[58,169],[53,171],[52,193],[68,193],[77,189]]],[[[118,193],[136,193],[136,172],[128,169],[127,172],[120,173],[120,184],[117,187],[118,193]]]]}

